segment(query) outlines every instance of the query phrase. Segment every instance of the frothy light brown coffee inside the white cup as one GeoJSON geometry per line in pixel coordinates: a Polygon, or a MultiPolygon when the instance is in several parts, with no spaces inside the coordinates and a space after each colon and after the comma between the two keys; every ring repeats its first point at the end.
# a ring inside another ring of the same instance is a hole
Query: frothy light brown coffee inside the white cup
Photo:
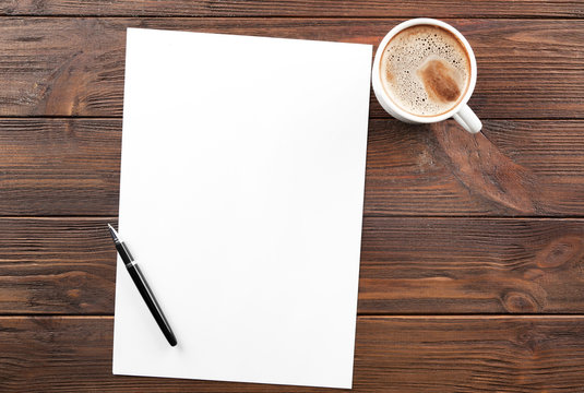
{"type": "Polygon", "coordinates": [[[385,93],[403,110],[439,116],[463,98],[470,81],[464,45],[449,31],[415,25],[397,33],[381,57],[385,93]]]}

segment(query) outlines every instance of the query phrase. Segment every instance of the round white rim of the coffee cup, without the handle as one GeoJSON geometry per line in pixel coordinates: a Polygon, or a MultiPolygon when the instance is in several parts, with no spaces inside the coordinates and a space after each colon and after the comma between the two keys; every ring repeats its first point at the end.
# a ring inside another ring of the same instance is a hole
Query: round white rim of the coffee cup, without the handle
{"type": "Polygon", "coordinates": [[[385,104],[391,107],[392,111],[395,111],[400,117],[407,119],[408,121],[419,122],[419,123],[432,123],[442,121],[445,119],[451,118],[454,114],[456,114],[461,108],[468,103],[470,99],[470,96],[473,95],[473,92],[475,91],[475,85],[477,82],[477,62],[475,58],[475,53],[473,51],[473,48],[470,47],[470,44],[466,40],[464,35],[462,35],[461,32],[458,32],[455,27],[452,25],[430,19],[430,17],[416,17],[412,20],[404,21],[396,26],[394,26],[386,35],[383,37],[381,43],[378,46],[376,58],[373,61],[373,70],[372,70],[372,83],[373,83],[373,91],[376,92],[376,95],[381,94],[383,99],[385,100],[385,104]],[[390,40],[400,32],[417,25],[434,25],[438,27],[442,27],[452,34],[456,36],[456,38],[463,44],[464,48],[466,49],[466,52],[468,53],[468,59],[470,61],[470,81],[468,82],[468,87],[466,88],[466,92],[463,96],[463,98],[456,104],[454,107],[452,107],[449,111],[444,114],[440,114],[437,116],[417,116],[414,114],[410,114],[402,108],[400,108],[388,95],[385,92],[385,88],[383,87],[383,84],[381,82],[381,75],[380,75],[380,66],[381,66],[381,56],[383,55],[383,51],[385,50],[390,40]]]}

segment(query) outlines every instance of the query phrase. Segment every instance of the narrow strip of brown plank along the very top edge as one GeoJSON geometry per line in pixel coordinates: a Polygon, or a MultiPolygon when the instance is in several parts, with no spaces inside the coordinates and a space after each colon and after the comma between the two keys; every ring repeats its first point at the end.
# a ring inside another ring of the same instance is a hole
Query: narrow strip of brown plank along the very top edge
{"type": "Polygon", "coordinates": [[[19,0],[0,4],[3,15],[128,15],[128,16],[567,16],[584,15],[580,1],[70,1],[19,0]]]}

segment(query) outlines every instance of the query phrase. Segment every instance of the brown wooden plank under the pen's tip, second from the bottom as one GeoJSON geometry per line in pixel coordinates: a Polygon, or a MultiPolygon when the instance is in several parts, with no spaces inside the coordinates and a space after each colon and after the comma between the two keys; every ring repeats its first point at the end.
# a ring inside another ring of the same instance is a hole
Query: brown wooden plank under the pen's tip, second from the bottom
{"type": "MultiPolygon", "coordinates": [[[[112,313],[110,218],[1,218],[0,313],[112,313]]],[[[584,219],[367,217],[359,313],[584,313],[584,219]]]]}

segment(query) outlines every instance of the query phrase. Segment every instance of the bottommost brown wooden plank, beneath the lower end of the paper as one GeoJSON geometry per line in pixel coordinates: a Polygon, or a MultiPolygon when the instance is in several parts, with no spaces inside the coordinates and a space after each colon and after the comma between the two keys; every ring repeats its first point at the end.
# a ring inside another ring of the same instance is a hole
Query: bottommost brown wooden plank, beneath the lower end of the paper
{"type": "MultiPolygon", "coordinates": [[[[0,318],[2,392],[338,392],[111,374],[112,318],[0,318]]],[[[577,392],[583,317],[361,317],[354,392],[577,392]]],[[[348,390],[347,390],[348,392],[348,390]]]]}

